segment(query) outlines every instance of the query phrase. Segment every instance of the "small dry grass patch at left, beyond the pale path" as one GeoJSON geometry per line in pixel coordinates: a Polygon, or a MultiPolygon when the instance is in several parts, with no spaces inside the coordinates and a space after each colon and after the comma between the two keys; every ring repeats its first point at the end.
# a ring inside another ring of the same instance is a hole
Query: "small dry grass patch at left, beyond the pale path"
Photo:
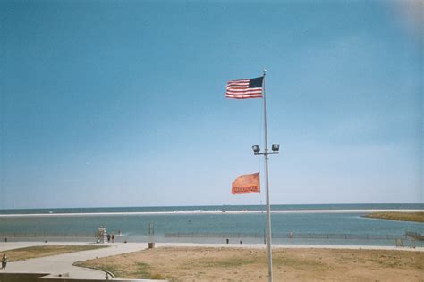
{"type": "Polygon", "coordinates": [[[6,253],[9,261],[24,261],[33,258],[40,258],[55,254],[74,253],[88,250],[105,248],[106,245],[38,245],[26,248],[19,248],[1,252],[6,253]]]}

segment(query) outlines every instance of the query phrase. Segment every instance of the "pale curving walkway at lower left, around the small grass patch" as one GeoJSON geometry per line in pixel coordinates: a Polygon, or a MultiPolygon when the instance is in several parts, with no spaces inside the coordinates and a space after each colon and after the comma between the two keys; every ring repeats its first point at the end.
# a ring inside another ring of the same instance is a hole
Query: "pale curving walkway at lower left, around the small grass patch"
{"type": "MultiPolygon", "coordinates": [[[[69,243],[69,242],[18,242],[18,243],[0,243],[0,253],[6,250],[34,246],[34,245],[93,245],[90,243],[69,243]]],[[[103,245],[103,244],[102,244],[103,245]]],[[[86,261],[100,257],[111,256],[121,253],[137,252],[147,248],[147,244],[128,243],[128,244],[105,244],[108,247],[81,251],[76,253],[64,253],[48,257],[35,258],[26,261],[16,261],[7,263],[7,269],[2,272],[12,273],[51,273],[51,277],[59,275],[69,278],[85,278],[85,279],[105,279],[106,273],[100,270],[85,269],[73,266],[76,261],[86,261]]],[[[139,280],[149,281],[149,280],[139,280]]]]}

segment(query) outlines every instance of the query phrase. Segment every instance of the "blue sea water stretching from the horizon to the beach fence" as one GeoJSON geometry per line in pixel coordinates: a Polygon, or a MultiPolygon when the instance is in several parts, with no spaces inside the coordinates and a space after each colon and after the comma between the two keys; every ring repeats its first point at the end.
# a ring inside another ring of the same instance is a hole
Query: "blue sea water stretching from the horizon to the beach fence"
{"type": "MultiPolygon", "coordinates": [[[[273,211],[291,212],[272,214],[273,243],[395,245],[401,242],[424,246],[423,241],[405,236],[406,232],[424,234],[423,223],[362,217],[368,210],[384,209],[424,210],[424,204],[275,205],[273,211]],[[319,212],[301,212],[305,210],[319,212]]],[[[7,237],[9,241],[90,242],[94,241],[96,229],[105,227],[109,233],[114,232],[117,242],[225,243],[229,239],[230,243],[263,244],[266,227],[265,212],[260,212],[263,210],[263,206],[255,205],[0,210],[0,240],[7,237]]]]}

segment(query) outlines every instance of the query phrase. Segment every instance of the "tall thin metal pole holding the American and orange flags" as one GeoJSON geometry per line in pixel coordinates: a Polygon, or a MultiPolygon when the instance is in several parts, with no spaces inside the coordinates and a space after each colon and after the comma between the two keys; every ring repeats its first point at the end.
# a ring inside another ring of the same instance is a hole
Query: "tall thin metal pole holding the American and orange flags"
{"type": "Polygon", "coordinates": [[[272,282],[272,248],[271,248],[271,208],[269,205],[269,183],[268,183],[268,137],[267,137],[267,95],[265,94],[265,75],[262,81],[262,92],[264,95],[264,129],[265,129],[265,185],[267,187],[267,251],[268,251],[268,281],[272,282]]]}

